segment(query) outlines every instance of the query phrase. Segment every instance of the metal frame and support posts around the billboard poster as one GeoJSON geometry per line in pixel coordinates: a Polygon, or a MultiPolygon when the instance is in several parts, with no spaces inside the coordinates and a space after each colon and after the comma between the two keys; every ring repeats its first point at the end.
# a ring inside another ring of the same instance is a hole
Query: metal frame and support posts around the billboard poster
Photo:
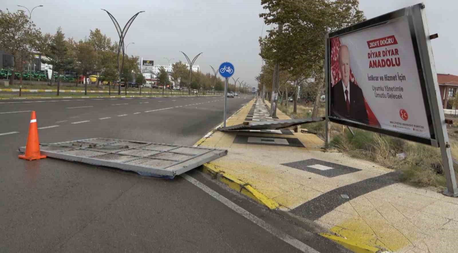
{"type": "Polygon", "coordinates": [[[432,38],[430,38],[428,25],[426,22],[425,5],[423,3],[399,9],[382,16],[377,16],[365,22],[361,22],[327,34],[325,38],[326,143],[328,144],[330,141],[329,122],[335,122],[338,124],[344,124],[347,126],[365,129],[380,134],[391,135],[405,140],[420,142],[434,147],[440,147],[442,154],[442,166],[447,179],[447,190],[445,190],[443,193],[448,196],[458,197],[458,188],[455,172],[453,170],[453,160],[450,152],[450,144],[447,134],[447,124],[445,123],[441,95],[439,86],[437,84],[436,66],[431,49],[431,39],[432,38]],[[425,104],[431,138],[423,138],[388,129],[382,129],[379,127],[373,127],[348,119],[333,117],[330,115],[330,39],[342,36],[344,34],[387,24],[388,22],[402,17],[407,17],[409,22],[409,29],[412,38],[414,55],[420,79],[420,87],[423,94],[423,102],[425,104]]]}

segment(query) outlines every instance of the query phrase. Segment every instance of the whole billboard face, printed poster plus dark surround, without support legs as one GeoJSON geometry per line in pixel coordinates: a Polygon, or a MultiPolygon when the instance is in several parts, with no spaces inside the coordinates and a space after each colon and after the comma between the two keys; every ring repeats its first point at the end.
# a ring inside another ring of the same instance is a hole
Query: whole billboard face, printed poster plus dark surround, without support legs
{"type": "Polygon", "coordinates": [[[328,34],[329,121],[437,145],[413,8],[328,34]]]}

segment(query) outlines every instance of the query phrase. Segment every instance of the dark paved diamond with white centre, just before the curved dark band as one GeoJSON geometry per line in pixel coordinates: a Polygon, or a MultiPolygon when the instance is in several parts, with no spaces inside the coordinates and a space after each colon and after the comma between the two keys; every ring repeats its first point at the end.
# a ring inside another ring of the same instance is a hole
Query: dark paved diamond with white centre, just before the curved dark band
{"type": "Polygon", "coordinates": [[[332,163],[332,162],[328,162],[328,161],[316,160],[316,159],[293,161],[293,162],[283,163],[281,165],[288,166],[288,167],[291,167],[291,168],[295,168],[295,169],[298,169],[298,170],[312,172],[312,173],[315,173],[315,174],[318,174],[318,175],[322,175],[322,176],[325,176],[325,177],[328,177],[328,178],[333,178],[333,177],[337,177],[337,176],[340,176],[340,175],[344,175],[344,174],[360,171],[360,169],[357,169],[357,168],[348,167],[348,166],[344,166],[344,165],[340,165],[340,164],[332,163]],[[331,167],[332,169],[319,170],[319,169],[316,169],[316,168],[309,167],[309,166],[313,166],[313,165],[316,165],[316,164],[327,166],[327,167],[331,167]]]}

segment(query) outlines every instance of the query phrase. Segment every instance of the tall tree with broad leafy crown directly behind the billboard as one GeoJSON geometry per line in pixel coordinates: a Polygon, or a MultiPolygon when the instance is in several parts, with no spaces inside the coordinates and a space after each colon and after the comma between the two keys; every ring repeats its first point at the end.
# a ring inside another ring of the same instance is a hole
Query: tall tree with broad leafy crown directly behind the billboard
{"type": "MultiPolygon", "coordinates": [[[[262,0],[265,13],[259,16],[267,25],[283,24],[283,30],[269,30],[260,38],[263,59],[278,61],[293,80],[315,78],[316,97],[324,88],[324,38],[365,19],[358,0],[262,0]]],[[[316,116],[314,108],[313,117],[316,116]]]]}

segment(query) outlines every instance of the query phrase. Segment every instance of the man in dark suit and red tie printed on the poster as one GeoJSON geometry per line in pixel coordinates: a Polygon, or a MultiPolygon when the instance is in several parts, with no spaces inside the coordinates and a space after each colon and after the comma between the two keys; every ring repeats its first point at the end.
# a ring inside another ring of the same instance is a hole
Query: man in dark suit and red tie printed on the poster
{"type": "Polygon", "coordinates": [[[350,52],[342,45],[338,52],[339,72],[342,79],[331,88],[331,116],[369,124],[364,95],[350,80],[350,52]]]}

